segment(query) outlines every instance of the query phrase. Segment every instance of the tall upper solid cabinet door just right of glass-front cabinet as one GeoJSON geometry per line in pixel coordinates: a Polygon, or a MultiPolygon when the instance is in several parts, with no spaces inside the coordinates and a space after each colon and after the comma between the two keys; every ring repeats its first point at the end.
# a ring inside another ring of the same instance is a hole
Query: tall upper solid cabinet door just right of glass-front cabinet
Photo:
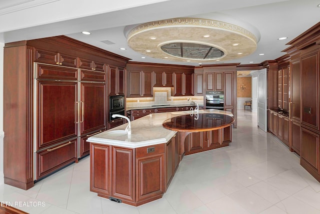
{"type": "Polygon", "coordinates": [[[291,106],[290,114],[292,120],[300,122],[300,59],[292,61],[290,64],[290,94],[291,94],[291,106]]]}

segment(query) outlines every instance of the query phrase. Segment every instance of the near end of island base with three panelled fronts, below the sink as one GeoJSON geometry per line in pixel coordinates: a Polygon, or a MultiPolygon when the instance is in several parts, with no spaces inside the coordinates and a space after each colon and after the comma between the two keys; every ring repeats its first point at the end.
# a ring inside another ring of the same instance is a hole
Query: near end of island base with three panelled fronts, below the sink
{"type": "Polygon", "coordinates": [[[98,196],[138,206],[165,191],[165,144],[124,148],[90,143],[90,161],[90,191],[98,196]]]}

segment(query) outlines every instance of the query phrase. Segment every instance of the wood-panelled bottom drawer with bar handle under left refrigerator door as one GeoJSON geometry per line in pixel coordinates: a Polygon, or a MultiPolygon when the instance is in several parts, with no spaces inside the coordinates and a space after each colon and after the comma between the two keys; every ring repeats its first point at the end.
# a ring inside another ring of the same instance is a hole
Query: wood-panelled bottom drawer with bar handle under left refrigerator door
{"type": "Polygon", "coordinates": [[[36,177],[39,179],[59,168],[73,162],[77,158],[77,140],[50,147],[36,153],[36,177]]]}

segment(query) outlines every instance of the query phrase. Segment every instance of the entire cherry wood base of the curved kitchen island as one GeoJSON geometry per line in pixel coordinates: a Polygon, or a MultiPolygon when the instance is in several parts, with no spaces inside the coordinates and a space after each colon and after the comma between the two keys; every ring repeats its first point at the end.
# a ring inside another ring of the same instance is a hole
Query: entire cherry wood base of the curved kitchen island
{"type": "Polygon", "coordinates": [[[90,191],[133,206],[159,199],[183,155],[228,146],[229,142],[231,126],[189,134],[177,132],[167,143],[139,148],[91,142],[90,191]]]}

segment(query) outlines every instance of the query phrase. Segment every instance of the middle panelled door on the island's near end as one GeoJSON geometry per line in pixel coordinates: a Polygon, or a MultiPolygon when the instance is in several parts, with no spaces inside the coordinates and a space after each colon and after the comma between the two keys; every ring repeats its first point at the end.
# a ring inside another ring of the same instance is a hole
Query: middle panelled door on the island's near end
{"type": "Polygon", "coordinates": [[[135,200],[133,149],[112,146],[112,194],[127,201],[135,200]]]}

